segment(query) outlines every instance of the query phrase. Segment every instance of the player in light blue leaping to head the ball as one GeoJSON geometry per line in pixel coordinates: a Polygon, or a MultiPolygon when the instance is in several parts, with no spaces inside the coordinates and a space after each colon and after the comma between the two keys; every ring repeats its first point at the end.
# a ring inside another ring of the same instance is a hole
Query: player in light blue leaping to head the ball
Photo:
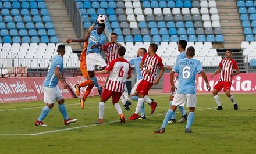
{"type": "Polygon", "coordinates": [[[86,64],[87,64],[87,71],[91,78],[91,81],[97,87],[99,95],[102,94],[102,87],[99,86],[97,78],[94,76],[94,69],[95,65],[105,67],[107,64],[105,60],[101,56],[101,49],[100,46],[104,44],[106,41],[106,36],[103,34],[105,29],[105,24],[101,23],[98,24],[97,30],[93,30],[95,25],[98,24],[98,21],[95,20],[93,25],[89,28],[84,38],[80,39],[71,39],[68,38],[66,40],[67,43],[71,42],[86,42],[88,41],[87,51],[86,51],[86,64]]]}

